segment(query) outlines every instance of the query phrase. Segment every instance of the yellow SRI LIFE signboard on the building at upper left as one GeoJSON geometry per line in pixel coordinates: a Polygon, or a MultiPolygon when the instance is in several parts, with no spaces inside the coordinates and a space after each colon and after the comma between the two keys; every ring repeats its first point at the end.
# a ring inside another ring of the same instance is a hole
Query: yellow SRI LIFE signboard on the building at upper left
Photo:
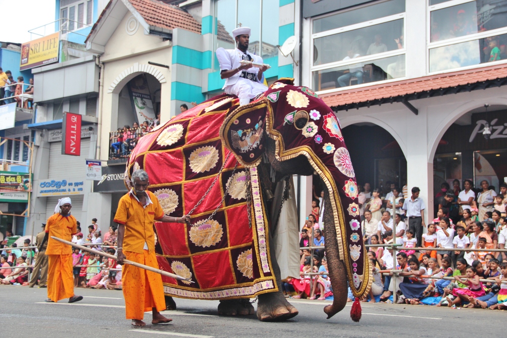
{"type": "Polygon", "coordinates": [[[59,47],[59,32],[22,44],[19,70],[26,70],[58,62],[59,47]]]}

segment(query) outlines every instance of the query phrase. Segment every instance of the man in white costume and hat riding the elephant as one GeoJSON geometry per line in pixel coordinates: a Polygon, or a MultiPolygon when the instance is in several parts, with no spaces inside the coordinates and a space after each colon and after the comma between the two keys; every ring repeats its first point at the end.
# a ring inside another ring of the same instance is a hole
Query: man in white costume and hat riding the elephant
{"type": "Polygon", "coordinates": [[[236,95],[239,104],[244,105],[250,99],[268,90],[264,82],[263,72],[268,69],[267,65],[254,67],[252,62],[263,63],[260,56],[248,52],[250,28],[238,27],[232,31],[236,40],[236,49],[219,48],[216,50],[216,58],[220,63],[220,77],[226,79],[222,89],[226,94],[236,95]],[[245,61],[241,63],[241,61],[245,61]]]}

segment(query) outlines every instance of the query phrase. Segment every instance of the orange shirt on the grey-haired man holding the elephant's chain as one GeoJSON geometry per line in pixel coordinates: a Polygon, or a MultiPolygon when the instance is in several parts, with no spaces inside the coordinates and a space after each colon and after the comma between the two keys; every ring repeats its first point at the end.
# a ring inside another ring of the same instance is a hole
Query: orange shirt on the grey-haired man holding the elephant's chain
{"type": "Polygon", "coordinates": [[[125,224],[123,251],[142,253],[144,243],[148,244],[149,252],[155,250],[153,223],[164,217],[164,210],[157,197],[152,192],[147,193],[152,203],[144,207],[130,192],[123,195],[118,202],[114,221],[125,224]]]}

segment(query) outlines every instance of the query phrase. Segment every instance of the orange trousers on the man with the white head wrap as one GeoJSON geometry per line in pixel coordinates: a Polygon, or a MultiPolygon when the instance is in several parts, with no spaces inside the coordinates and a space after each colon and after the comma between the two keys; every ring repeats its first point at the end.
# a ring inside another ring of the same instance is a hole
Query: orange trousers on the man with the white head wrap
{"type": "Polygon", "coordinates": [[[48,255],[48,298],[53,302],[74,296],[72,255],[48,255]]]}

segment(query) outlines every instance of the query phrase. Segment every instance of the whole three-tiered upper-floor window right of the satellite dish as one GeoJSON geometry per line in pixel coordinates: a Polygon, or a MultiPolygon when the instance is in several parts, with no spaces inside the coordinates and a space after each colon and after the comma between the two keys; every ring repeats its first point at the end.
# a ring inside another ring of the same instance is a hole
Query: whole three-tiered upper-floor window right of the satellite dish
{"type": "Polygon", "coordinates": [[[405,0],[312,21],[313,88],[322,91],[405,77],[405,0]]]}

